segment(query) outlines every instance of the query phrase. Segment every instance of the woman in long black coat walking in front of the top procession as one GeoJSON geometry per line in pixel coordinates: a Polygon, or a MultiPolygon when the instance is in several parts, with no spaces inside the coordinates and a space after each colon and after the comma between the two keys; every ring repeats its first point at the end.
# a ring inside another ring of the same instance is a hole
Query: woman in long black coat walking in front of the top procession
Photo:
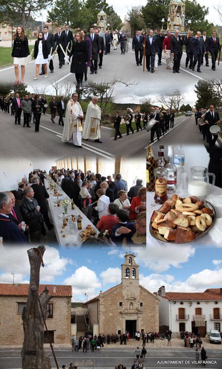
{"type": "Polygon", "coordinates": [[[79,87],[82,87],[83,75],[86,70],[86,64],[89,61],[89,53],[87,42],[83,41],[81,32],[76,32],[75,40],[70,53],[70,58],[71,57],[73,58],[70,71],[71,73],[75,73],[77,84],[79,87]]]}

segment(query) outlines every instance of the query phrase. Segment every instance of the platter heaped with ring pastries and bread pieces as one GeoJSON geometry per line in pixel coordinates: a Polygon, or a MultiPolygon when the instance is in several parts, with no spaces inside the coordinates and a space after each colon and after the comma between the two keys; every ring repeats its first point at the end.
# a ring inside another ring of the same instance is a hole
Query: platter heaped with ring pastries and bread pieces
{"type": "Polygon", "coordinates": [[[213,227],[215,218],[215,209],[208,201],[175,194],[153,211],[149,230],[160,242],[194,242],[213,227]]]}

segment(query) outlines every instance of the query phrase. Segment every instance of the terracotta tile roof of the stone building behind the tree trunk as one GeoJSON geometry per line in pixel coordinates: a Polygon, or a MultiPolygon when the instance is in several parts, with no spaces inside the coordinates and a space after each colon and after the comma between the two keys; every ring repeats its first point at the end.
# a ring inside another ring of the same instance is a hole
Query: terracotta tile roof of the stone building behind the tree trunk
{"type": "MultiPolygon", "coordinates": [[[[72,297],[72,286],[55,284],[55,292],[53,292],[53,284],[39,284],[38,293],[41,294],[45,286],[48,289],[48,293],[56,297],[72,297]]],[[[10,284],[0,283],[0,296],[28,296],[29,284],[10,284]]]]}

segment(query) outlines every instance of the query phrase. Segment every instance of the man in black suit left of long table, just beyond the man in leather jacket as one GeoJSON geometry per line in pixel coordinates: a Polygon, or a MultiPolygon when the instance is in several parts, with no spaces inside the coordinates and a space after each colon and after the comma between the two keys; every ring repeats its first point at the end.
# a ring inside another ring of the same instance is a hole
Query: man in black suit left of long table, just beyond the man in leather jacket
{"type": "MultiPolygon", "coordinates": [[[[50,231],[54,226],[53,224],[50,223],[50,220],[48,217],[47,203],[45,201],[46,198],[49,198],[49,194],[46,191],[45,186],[39,185],[39,179],[37,177],[32,178],[31,183],[32,183],[31,187],[33,188],[33,191],[34,191],[33,197],[37,200],[38,205],[40,206],[40,212],[42,213],[43,218],[44,218],[44,222],[48,230],[50,231]]],[[[43,223],[42,223],[41,233],[44,236],[45,228],[44,228],[43,223]]]]}

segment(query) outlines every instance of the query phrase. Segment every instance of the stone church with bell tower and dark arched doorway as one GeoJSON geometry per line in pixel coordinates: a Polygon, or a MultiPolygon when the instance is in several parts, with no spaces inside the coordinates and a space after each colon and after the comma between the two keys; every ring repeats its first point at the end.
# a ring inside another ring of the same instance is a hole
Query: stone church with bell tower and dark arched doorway
{"type": "Polygon", "coordinates": [[[125,255],[121,265],[122,282],[85,303],[90,329],[98,324],[101,334],[158,331],[158,297],[139,284],[139,265],[135,255],[125,255]]]}

